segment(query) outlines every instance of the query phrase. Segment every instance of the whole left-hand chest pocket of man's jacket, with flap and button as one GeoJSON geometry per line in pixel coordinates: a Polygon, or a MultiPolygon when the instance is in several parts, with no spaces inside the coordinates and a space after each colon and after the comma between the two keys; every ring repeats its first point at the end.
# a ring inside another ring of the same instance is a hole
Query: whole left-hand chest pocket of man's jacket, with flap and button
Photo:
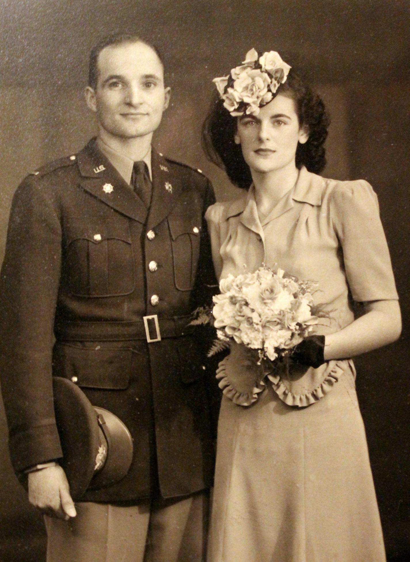
{"type": "Polygon", "coordinates": [[[113,297],[133,292],[133,247],[126,219],[71,219],[64,231],[71,294],[113,297]]]}

